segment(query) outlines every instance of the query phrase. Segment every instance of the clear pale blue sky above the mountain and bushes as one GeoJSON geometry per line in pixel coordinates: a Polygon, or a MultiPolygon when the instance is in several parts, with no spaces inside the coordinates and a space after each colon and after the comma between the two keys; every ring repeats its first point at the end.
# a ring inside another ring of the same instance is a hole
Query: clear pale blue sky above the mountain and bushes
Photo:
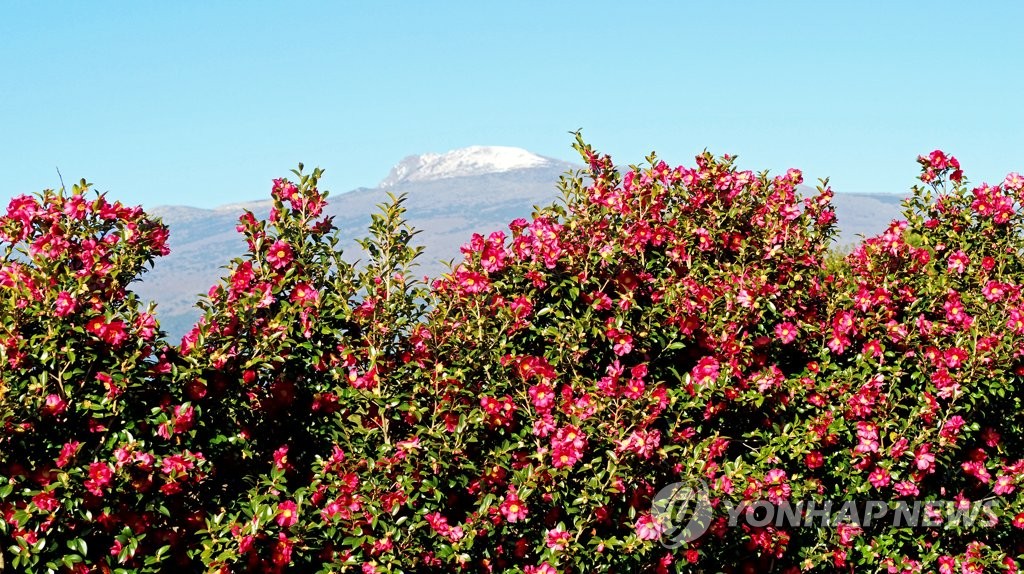
{"type": "Polygon", "coordinates": [[[86,178],[144,206],[335,193],[472,144],[703,148],[903,192],[936,147],[1024,172],[1021,2],[0,3],[0,202],[86,178]]]}

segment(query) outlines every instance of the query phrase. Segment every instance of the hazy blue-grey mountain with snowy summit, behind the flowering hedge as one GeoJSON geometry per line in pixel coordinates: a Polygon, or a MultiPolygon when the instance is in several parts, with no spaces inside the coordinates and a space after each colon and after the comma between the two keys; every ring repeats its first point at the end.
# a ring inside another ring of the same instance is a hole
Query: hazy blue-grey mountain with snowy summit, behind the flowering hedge
{"type": "MultiPolygon", "coordinates": [[[[420,274],[436,276],[443,261],[461,257],[459,247],[474,232],[508,229],[517,217],[529,217],[534,206],[558,197],[556,182],[573,164],[537,156],[525,149],[472,146],[445,153],[426,153],[401,160],[377,187],[358,188],[328,198],[327,213],[344,238],[350,261],[360,258],[356,237],[366,235],[370,215],[388,201],[388,193],[406,193],[410,224],[426,250],[420,274]]],[[[803,190],[805,195],[811,189],[803,190]]],[[[899,217],[900,197],[887,194],[837,193],[834,200],[841,233],[839,246],[858,235],[881,232],[899,217]]],[[[234,230],[243,210],[265,217],[269,201],[199,209],[163,206],[150,210],[170,226],[171,254],[161,258],[136,285],[144,300],[158,303],[158,316],[171,340],[183,335],[199,317],[197,295],[206,293],[224,273],[231,258],[245,253],[245,241],[234,230]]]]}

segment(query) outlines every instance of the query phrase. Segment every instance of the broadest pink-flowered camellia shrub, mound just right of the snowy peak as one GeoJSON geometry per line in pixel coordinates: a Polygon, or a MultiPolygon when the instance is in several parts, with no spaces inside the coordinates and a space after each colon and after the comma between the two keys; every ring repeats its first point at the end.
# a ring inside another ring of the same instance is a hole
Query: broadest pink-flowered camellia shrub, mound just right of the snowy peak
{"type": "Polygon", "coordinates": [[[761,478],[735,458],[824,321],[830,191],[710,154],[621,175],[579,147],[591,181],[564,179],[564,207],[475,236],[434,285],[437,410],[467,422],[446,494],[496,570],[669,569],[658,488],[761,478]]]}

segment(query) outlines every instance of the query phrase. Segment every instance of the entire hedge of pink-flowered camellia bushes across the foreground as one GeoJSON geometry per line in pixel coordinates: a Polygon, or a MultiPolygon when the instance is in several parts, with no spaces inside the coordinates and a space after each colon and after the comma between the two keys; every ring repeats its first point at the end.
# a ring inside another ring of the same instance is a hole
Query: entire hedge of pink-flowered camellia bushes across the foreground
{"type": "Polygon", "coordinates": [[[13,200],[0,570],[1017,571],[1024,178],[923,156],[841,256],[826,181],[575,147],[433,280],[402,197],[353,264],[300,166],[180,343],[130,291],[166,227],[84,182],[13,200]],[[711,509],[685,539],[676,484],[711,509]],[[809,501],[985,512],[750,520],[809,501]]]}

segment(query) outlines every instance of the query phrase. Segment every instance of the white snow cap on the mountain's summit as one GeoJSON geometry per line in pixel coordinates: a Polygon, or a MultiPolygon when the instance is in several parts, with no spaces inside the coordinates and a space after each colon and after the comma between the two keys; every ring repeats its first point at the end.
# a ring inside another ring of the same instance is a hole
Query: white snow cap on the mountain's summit
{"type": "Polygon", "coordinates": [[[445,153],[410,156],[398,162],[380,187],[412,181],[432,181],[488,173],[546,167],[556,162],[520,147],[472,145],[445,153]]]}

